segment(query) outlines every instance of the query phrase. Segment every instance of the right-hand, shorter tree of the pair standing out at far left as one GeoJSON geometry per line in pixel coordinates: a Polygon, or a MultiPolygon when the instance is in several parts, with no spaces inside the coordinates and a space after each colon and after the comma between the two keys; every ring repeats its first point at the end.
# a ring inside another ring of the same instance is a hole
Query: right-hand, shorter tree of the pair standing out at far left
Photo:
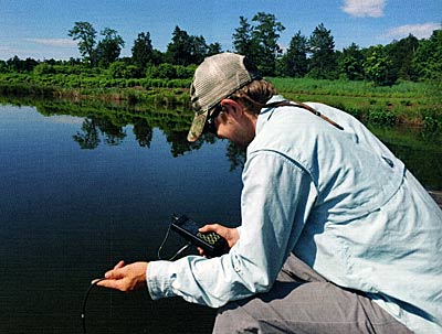
{"type": "Polygon", "coordinates": [[[96,62],[103,67],[108,67],[114,63],[122,52],[125,42],[117,31],[110,28],[105,28],[102,31],[104,39],[98,42],[96,47],[96,62]]]}

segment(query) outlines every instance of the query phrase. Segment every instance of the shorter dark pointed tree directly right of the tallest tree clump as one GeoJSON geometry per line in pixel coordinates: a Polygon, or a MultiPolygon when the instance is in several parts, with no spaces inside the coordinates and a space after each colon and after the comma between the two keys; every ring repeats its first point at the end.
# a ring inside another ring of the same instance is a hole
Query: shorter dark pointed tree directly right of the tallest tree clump
{"type": "Polygon", "coordinates": [[[298,31],[291,40],[286,53],[281,58],[281,74],[303,77],[308,71],[307,39],[298,31]]]}

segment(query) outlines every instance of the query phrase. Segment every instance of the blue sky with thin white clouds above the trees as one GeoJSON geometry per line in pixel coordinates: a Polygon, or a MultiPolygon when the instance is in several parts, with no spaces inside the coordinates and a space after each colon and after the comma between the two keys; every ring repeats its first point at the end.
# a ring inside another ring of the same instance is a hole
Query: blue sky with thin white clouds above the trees
{"type": "Polygon", "coordinates": [[[412,33],[429,37],[441,29],[441,0],[0,0],[0,60],[80,57],[67,31],[76,21],[96,31],[115,29],[129,56],[134,40],[149,32],[154,47],[166,51],[176,25],[191,35],[232,50],[240,17],[252,23],[257,12],[272,13],[284,26],[286,47],[297,32],[309,36],[319,23],[332,31],[336,50],[352,42],[361,47],[388,44],[412,33]]]}

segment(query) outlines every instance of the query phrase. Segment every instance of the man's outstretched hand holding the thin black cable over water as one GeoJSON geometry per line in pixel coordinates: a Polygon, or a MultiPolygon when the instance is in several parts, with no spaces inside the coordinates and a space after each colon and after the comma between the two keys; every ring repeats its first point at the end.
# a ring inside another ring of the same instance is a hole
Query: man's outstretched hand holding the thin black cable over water
{"type": "Polygon", "coordinates": [[[105,279],[97,285],[125,292],[138,290],[146,284],[147,266],[148,262],[126,265],[124,261],[119,261],[114,269],[105,273],[105,279]]]}

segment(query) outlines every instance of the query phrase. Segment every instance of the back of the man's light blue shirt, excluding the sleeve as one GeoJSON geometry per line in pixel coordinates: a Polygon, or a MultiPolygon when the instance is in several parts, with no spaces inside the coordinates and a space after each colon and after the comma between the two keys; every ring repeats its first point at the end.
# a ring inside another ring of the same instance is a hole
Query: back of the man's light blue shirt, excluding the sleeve
{"type": "Polygon", "coordinates": [[[442,212],[403,163],[360,122],[311,104],[260,116],[248,159],[282,154],[315,186],[294,252],[328,280],[366,292],[411,330],[442,324],[442,212]],[[400,305],[400,308],[398,308],[400,305]],[[436,319],[439,316],[439,319],[436,319]],[[429,321],[425,321],[429,320],[429,321]]]}

